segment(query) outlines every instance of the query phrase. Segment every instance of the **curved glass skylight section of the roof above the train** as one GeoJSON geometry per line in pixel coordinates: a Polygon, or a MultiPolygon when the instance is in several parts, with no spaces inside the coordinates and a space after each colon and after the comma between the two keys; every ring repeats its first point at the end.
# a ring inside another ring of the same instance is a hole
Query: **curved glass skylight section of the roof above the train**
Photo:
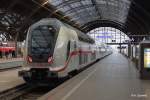
{"type": "Polygon", "coordinates": [[[79,25],[95,20],[112,20],[125,23],[130,0],[49,0],[57,11],[65,13],[79,25]]]}

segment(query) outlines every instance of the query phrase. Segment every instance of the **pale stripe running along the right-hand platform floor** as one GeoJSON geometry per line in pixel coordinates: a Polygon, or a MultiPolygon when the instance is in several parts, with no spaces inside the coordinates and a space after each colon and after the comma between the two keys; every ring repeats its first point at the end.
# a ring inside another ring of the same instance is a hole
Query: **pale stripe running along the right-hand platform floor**
{"type": "Polygon", "coordinates": [[[69,93],[67,93],[61,100],[67,100],[68,97],[70,97],[89,77],[91,77],[95,72],[96,72],[97,68],[95,70],[93,70],[91,73],[89,73],[87,75],[86,78],[84,78],[83,80],[81,80],[71,91],[69,91],[69,93]]]}

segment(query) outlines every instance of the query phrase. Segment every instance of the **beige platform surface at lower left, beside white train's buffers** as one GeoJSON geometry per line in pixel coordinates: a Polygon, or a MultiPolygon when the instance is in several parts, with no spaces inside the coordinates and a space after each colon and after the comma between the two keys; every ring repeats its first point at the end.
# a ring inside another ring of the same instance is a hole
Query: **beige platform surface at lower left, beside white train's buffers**
{"type": "Polygon", "coordinates": [[[18,77],[18,70],[19,69],[13,69],[0,72],[0,92],[24,83],[23,79],[18,77]]]}

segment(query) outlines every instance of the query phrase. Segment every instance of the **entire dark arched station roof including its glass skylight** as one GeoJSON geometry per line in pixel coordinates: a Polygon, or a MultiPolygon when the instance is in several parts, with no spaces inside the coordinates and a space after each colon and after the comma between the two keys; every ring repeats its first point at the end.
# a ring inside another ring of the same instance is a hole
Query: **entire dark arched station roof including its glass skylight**
{"type": "Polygon", "coordinates": [[[149,4],[149,0],[1,0],[0,32],[21,41],[32,23],[56,17],[83,32],[110,26],[127,35],[148,34],[149,4]]]}

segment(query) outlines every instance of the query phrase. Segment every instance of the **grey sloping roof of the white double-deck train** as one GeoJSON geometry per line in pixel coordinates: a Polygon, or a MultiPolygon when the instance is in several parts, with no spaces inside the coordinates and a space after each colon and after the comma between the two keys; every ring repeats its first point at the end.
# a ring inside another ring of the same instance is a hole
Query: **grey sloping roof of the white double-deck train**
{"type": "Polygon", "coordinates": [[[66,23],[63,23],[63,22],[59,21],[56,18],[43,18],[40,21],[38,21],[37,23],[33,24],[30,28],[34,29],[39,24],[42,25],[44,23],[52,25],[56,29],[60,29],[61,26],[66,26],[66,27],[71,28],[72,30],[75,30],[77,32],[79,40],[85,41],[85,42],[88,42],[88,43],[95,43],[95,41],[90,36],[84,34],[83,32],[79,31],[78,29],[76,29],[76,28],[74,28],[74,27],[72,27],[72,26],[70,26],[66,23]]]}

